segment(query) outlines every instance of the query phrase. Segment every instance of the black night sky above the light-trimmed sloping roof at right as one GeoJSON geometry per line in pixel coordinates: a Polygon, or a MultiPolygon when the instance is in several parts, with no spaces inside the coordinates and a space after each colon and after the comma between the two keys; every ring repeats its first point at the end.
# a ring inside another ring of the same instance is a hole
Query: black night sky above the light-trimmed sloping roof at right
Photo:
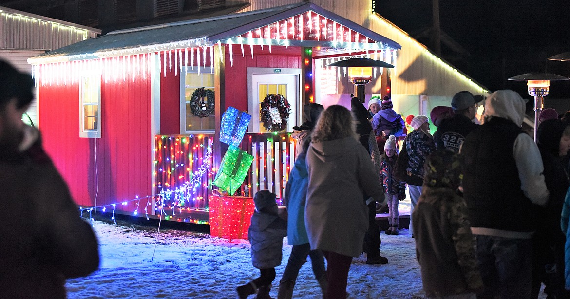
{"type": "MultiPolygon", "coordinates": [[[[377,12],[412,37],[431,27],[431,5],[430,0],[376,0],[377,12]]],[[[442,45],[442,58],[491,91],[527,95],[524,82],[507,81],[527,72],[570,76],[569,62],[547,60],[570,51],[568,0],[439,0],[439,15],[441,30],[468,52],[458,58],[442,45]]],[[[429,39],[418,40],[430,47],[429,39]]],[[[569,81],[552,82],[549,97],[570,99],[569,81]]]]}

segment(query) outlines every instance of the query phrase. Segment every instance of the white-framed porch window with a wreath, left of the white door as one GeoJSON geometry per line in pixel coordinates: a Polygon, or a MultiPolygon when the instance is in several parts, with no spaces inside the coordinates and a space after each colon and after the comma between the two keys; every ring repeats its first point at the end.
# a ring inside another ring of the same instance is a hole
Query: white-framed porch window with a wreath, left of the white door
{"type": "MultiPolygon", "coordinates": [[[[186,72],[181,72],[180,89],[181,89],[181,107],[180,107],[180,131],[181,134],[185,133],[214,133],[215,130],[215,117],[214,113],[210,116],[200,117],[192,113],[190,105],[192,94],[197,88],[205,88],[214,91],[214,73],[211,72],[210,67],[200,68],[187,67],[186,72]]],[[[211,101],[207,105],[213,105],[214,99],[207,99],[211,101]]]]}

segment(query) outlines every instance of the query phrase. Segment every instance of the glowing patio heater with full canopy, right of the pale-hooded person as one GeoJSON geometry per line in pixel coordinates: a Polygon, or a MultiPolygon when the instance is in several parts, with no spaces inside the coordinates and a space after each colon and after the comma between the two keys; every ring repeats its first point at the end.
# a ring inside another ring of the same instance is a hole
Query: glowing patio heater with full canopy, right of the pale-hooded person
{"type": "Polygon", "coordinates": [[[523,73],[508,78],[511,81],[527,81],[528,94],[534,97],[534,110],[535,110],[535,124],[534,124],[534,139],[538,141],[538,116],[544,108],[544,97],[548,95],[550,81],[568,80],[567,77],[554,75],[552,73],[523,73]]]}

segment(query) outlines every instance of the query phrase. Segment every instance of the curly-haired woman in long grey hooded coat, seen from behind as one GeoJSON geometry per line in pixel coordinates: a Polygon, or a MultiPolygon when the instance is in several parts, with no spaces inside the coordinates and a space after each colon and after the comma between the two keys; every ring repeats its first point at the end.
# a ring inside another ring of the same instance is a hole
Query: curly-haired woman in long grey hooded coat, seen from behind
{"type": "Polygon", "coordinates": [[[340,105],[323,111],[307,151],[305,222],[311,249],[327,258],[325,298],[346,298],[352,257],[362,253],[368,229],[363,192],[385,202],[370,155],[357,140],[351,112],[340,105]]]}

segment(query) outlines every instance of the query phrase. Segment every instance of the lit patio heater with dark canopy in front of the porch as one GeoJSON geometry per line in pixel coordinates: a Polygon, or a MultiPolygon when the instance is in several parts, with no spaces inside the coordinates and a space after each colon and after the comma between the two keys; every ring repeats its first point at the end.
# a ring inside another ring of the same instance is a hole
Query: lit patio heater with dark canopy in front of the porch
{"type": "Polygon", "coordinates": [[[394,65],[369,58],[351,58],[328,64],[331,67],[348,67],[349,81],[355,84],[355,97],[364,103],[365,85],[372,81],[372,68],[393,68],[394,65]]]}

